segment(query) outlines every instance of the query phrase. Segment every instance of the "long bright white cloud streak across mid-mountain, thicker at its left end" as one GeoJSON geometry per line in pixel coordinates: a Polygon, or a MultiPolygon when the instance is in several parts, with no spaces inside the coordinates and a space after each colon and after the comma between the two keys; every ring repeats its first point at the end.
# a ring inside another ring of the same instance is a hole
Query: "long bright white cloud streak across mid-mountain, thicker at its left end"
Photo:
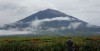
{"type": "MultiPolygon", "coordinates": [[[[62,21],[62,20],[67,20],[67,21],[72,21],[71,18],[69,17],[55,17],[55,18],[45,18],[45,19],[41,19],[38,20],[38,18],[36,18],[35,21],[32,21],[32,27],[37,28],[39,27],[41,24],[43,24],[43,22],[50,22],[50,21],[62,21]]],[[[74,18],[73,18],[74,20],[74,18]]]]}

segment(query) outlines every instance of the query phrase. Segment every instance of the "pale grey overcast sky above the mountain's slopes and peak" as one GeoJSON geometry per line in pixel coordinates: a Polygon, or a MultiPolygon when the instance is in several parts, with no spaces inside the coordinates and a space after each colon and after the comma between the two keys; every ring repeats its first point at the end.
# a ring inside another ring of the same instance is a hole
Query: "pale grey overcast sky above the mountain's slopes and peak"
{"type": "Polygon", "coordinates": [[[0,0],[0,25],[18,21],[47,8],[100,26],[99,0],[0,0]]]}

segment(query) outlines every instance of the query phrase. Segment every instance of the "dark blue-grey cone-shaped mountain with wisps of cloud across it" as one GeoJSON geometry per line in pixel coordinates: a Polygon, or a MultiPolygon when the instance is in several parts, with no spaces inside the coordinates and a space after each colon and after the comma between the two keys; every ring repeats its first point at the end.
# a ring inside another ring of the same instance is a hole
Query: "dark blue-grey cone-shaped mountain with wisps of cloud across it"
{"type": "Polygon", "coordinates": [[[91,25],[58,10],[46,9],[32,14],[12,24],[6,24],[0,29],[27,30],[33,34],[41,33],[72,33],[72,32],[100,32],[100,27],[91,25]]]}

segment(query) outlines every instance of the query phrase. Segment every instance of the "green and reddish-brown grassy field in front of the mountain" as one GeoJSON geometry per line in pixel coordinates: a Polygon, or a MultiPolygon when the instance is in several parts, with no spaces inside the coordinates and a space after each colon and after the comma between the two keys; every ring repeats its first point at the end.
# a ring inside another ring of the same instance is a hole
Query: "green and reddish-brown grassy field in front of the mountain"
{"type": "MultiPolygon", "coordinates": [[[[67,51],[67,36],[0,38],[0,51],[67,51]]],[[[100,51],[100,36],[72,37],[80,51],[100,51]]]]}

